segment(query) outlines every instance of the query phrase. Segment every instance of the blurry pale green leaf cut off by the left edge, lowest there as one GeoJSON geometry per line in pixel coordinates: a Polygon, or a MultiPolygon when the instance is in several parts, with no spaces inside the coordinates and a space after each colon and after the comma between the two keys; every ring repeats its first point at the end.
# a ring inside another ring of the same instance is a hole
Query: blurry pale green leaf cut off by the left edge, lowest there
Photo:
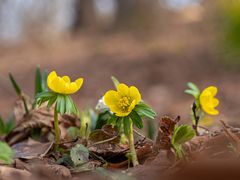
{"type": "Polygon", "coordinates": [[[5,164],[12,164],[14,155],[15,152],[11,147],[7,143],[0,141],[0,161],[5,164]]]}

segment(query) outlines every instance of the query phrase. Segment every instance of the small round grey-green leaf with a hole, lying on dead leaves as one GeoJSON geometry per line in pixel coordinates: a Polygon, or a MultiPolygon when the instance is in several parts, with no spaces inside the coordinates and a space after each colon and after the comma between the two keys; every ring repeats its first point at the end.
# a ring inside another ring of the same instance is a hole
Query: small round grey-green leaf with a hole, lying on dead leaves
{"type": "Polygon", "coordinates": [[[70,157],[74,165],[79,166],[89,161],[89,151],[84,145],[77,144],[71,149],[70,157]]]}

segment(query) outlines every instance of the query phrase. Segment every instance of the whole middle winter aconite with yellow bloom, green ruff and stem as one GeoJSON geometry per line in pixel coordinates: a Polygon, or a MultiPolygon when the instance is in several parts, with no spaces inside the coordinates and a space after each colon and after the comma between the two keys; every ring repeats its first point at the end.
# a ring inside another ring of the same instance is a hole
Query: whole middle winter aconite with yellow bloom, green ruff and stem
{"type": "Polygon", "coordinates": [[[133,166],[137,166],[139,163],[134,144],[133,126],[143,128],[142,118],[154,119],[156,113],[141,100],[141,94],[135,86],[128,87],[126,84],[119,83],[115,77],[112,77],[112,80],[117,90],[109,90],[103,97],[110,113],[107,123],[115,125],[120,133],[128,137],[128,158],[133,166]]]}

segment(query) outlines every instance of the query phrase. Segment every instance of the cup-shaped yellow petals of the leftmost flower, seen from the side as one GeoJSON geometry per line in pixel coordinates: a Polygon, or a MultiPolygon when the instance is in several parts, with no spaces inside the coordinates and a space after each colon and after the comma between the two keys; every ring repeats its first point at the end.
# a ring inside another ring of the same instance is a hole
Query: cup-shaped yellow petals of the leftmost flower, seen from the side
{"type": "Polygon", "coordinates": [[[55,71],[52,71],[47,78],[48,87],[59,94],[73,94],[77,92],[82,84],[83,78],[79,78],[74,82],[71,82],[68,76],[60,77],[55,71]]]}

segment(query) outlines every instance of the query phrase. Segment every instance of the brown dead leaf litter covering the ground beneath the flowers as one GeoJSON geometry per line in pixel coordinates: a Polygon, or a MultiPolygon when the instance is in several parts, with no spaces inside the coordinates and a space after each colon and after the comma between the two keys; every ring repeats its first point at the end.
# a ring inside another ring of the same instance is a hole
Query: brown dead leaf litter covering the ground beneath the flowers
{"type": "Polygon", "coordinates": [[[187,161],[177,159],[171,140],[180,117],[173,119],[168,116],[160,119],[154,142],[139,132],[135,133],[135,136],[139,137],[135,142],[135,148],[141,163],[136,168],[128,169],[130,165],[126,157],[128,145],[120,143],[121,136],[111,125],[104,125],[101,129],[91,132],[87,139],[78,137],[76,133],[76,139],[69,140],[71,138],[67,136],[67,129],[79,126],[80,121],[77,117],[69,115],[64,115],[60,119],[62,132],[65,132],[61,137],[69,141],[63,141],[62,149],[54,152],[54,143],[50,136],[53,133],[53,111],[45,107],[29,108],[29,113],[25,114],[21,103],[22,101],[16,103],[15,126],[5,137],[6,142],[15,150],[15,163],[12,166],[0,166],[3,179],[9,179],[10,174],[11,178],[14,174],[20,174],[25,178],[94,179],[97,174],[97,177],[107,176],[110,179],[115,175],[129,179],[149,177],[156,179],[160,176],[168,177],[169,173],[177,174],[189,164],[200,163],[203,159],[232,160],[233,157],[239,157],[240,130],[222,121],[220,131],[196,136],[183,144],[187,161]],[[41,129],[41,133],[44,132],[40,139],[33,136],[33,129],[41,129]],[[69,152],[69,155],[66,152],[69,152]],[[101,167],[104,167],[104,170],[99,169],[101,167]]]}

